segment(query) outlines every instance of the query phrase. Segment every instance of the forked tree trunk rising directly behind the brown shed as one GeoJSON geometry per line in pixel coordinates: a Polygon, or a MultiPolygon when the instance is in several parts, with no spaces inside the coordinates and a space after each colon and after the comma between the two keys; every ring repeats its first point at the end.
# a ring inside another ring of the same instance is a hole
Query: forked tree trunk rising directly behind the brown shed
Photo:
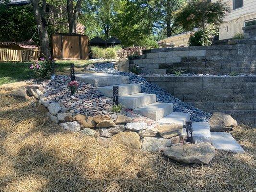
{"type": "Polygon", "coordinates": [[[78,20],[78,15],[81,9],[83,0],[77,0],[75,8],[73,8],[73,0],[67,0],[67,11],[68,11],[68,22],[69,22],[69,32],[76,33],[76,25],[78,20]]]}

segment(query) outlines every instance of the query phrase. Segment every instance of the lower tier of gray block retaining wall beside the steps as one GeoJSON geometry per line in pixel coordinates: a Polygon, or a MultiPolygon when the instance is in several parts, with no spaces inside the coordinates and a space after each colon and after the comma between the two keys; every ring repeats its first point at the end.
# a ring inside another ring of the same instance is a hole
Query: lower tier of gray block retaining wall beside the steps
{"type": "Polygon", "coordinates": [[[145,77],[173,96],[204,111],[224,112],[256,124],[256,75],[235,77],[145,77]]]}

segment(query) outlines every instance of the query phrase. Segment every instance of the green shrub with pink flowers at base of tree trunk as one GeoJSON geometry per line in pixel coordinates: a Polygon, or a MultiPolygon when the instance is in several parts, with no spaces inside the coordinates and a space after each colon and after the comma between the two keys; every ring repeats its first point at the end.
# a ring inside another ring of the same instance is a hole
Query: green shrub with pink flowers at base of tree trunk
{"type": "Polygon", "coordinates": [[[37,60],[34,61],[34,63],[30,66],[30,69],[34,71],[34,74],[37,77],[49,79],[54,73],[55,62],[54,60],[51,60],[51,58],[47,60],[45,58],[40,58],[40,60],[43,62],[39,64],[37,60]]]}

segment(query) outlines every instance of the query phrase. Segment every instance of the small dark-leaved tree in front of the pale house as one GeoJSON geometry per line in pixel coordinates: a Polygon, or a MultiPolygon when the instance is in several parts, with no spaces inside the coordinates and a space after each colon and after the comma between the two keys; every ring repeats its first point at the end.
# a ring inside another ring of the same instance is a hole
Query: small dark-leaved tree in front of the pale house
{"type": "Polygon", "coordinates": [[[228,2],[223,2],[223,0],[213,3],[208,0],[189,0],[176,13],[175,21],[185,30],[199,27],[204,31],[207,24],[221,24],[230,10],[228,2]]]}

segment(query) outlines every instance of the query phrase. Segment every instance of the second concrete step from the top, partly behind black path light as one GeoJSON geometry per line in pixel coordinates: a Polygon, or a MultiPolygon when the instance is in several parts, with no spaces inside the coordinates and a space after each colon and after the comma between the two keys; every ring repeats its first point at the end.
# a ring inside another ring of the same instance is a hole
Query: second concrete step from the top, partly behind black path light
{"type": "Polygon", "coordinates": [[[140,93],[140,85],[139,84],[117,84],[110,85],[105,87],[98,87],[98,90],[101,91],[105,96],[110,98],[113,97],[113,86],[118,86],[118,96],[127,96],[135,93],[140,93]]]}

